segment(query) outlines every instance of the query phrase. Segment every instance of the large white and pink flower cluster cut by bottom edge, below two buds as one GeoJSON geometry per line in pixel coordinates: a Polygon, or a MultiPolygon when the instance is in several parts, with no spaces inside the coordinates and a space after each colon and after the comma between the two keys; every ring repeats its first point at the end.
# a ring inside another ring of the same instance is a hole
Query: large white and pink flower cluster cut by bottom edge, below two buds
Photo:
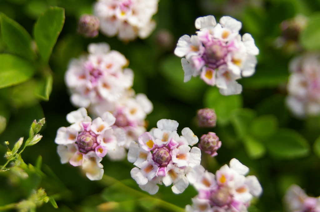
{"type": "Polygon", "coordinates": [[[199,194],[187,205],[188,212],[247,211],[253,196],[262,193],[255,176],[247,176],[249,168],[233,158],[230,167],[224,165],[216,175],[197,166],[187,174],[187,178],[199,194]]]}

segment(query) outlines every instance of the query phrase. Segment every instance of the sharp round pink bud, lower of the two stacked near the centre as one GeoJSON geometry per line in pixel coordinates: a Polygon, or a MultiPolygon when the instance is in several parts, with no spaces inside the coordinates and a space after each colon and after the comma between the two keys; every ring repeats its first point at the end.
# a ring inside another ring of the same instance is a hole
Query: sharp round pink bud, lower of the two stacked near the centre
{"type": "Polygon", "coordinates": [[[221,141],[216,133],[209,132],[201,136],[198,147],[213,157],[218,155],[217,150],[221,147],[221,141]]]}

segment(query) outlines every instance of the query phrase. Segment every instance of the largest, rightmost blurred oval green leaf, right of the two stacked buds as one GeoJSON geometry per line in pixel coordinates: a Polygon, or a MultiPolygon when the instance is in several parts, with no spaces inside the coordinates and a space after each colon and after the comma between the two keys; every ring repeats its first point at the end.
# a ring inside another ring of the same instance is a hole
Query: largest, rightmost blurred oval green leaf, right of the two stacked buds
{"type": "Polygon", "coordinates": [[[282,128],[266,141],[269,153],[278,159],[307,156],[310,150],[307,140],[295,130],[282,128]]]}

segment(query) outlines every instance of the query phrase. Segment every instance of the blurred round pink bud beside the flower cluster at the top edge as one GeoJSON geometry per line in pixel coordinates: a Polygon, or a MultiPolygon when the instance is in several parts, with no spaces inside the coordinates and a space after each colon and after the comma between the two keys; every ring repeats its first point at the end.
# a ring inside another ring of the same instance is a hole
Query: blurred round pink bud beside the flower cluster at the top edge
{"type": "Polygon", "coordinates": [[[94,38],[99,34],[100,21],[94,15],[84,14],[79,19],[78,33],[88,38],[94,38]]]}

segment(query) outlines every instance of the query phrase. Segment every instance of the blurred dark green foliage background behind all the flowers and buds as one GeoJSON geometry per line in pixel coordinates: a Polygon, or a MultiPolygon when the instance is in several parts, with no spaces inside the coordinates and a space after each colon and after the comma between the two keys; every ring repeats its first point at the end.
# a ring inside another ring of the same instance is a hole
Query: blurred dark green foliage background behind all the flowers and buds
{"type": "MultiPolygon", "coordinates": [[[[282,21],[297,14],[309,20],[319,19],[319,0],[160,0],[154,16],[156,30],[148,39],[130,43],[102,34],[87,39],[76,33],[78,18],[92,13],[93,3],[93,0],[0,0],[0,11],[22,25],[31,36],[36,20],[49,6],[65,8],[66,17],[49,60],[49,72],[53,76],[49,100],[42,101],[34,95],[41,74],[0,89],[0,115],[7,120],[0,134],[1,155],[6,152],[4,141],[12,146],[20,137],[27,138],[32,121],[46,118],[41,131],[43,139],[22,153],[24,161],[34,165],[42,155],[45,175],[30,172],[29,178],[19,179],[11,173],[1,174],[0,206],[26,199],[33,189],[43,187],[48,195],[61,194],[56,199],[59,208],[44,204],[38,211],[97,211],[96,206],[106,201],[123,202],[120,211],[168,211],[152,204],[148,198],[135,201],[137,197],[125,186],[108,187],[108,180],[90,181],[78,167],[60,164],[54,143],[56,131],[60,126],[69,125],[66,115],[76,110],[69,102],[64,73],[68,61],[84,54],[91,42],[108,42],[111,49],[129,59],[129,67],[135,74],[133,88],[137,93],[145,93],[154,104],[153,112],[147,117],[148,129],[155,127],[159,119],[169,118],[179,122],[178,133],[187,126],[198,137],[208,131],[215,132],[222,147],[215,158],[203,154],[204,167],[215,173],[235,157],[250,168],[249,174],[258,177],[264,191],[249,212],[283,211],[282,197],[292,183],[305,188],[311,196],[320,195],[320,139],[317,139],[320,117],[296,119],[284,104],[288,62],[303,51],[320,50],[320,22],[308,25],[306,32],[300,34],[300,40],[295,41],[302,44],[300,49],[288,50],[275,45],[281,36],[282,21]],[[243,85],[241,95],[222,96],[217,88],[209,87],[199,78],[183,82],[180,58],[173,50],[180,36],[195,34],[195,19],[205,15],[214,15],[217,21],[223,15],[240,20],[243,25],[240,33],[252,34],[260,49],[256,73],[239,80],[243,85]],[[217,127],[197,126],[196,110],[204,107],[216,110],[217,127]],[[314,145],[316,140],[318,143],[314,145]]],[[[0,52],[11,53],[2,37],[0,52]]],[[[0,157],[0,164],[4,163],[4,157],[0,157]]],[[[106,175],[144,193],[131,179],[133,164],[126,160],[111,162],[107,158],[101,163],[106,175]]],[[[160,186],[155,197],[184,208],[195,195],[191,186],[179,195],[173,194],[170,186],[160,186]]]]}

